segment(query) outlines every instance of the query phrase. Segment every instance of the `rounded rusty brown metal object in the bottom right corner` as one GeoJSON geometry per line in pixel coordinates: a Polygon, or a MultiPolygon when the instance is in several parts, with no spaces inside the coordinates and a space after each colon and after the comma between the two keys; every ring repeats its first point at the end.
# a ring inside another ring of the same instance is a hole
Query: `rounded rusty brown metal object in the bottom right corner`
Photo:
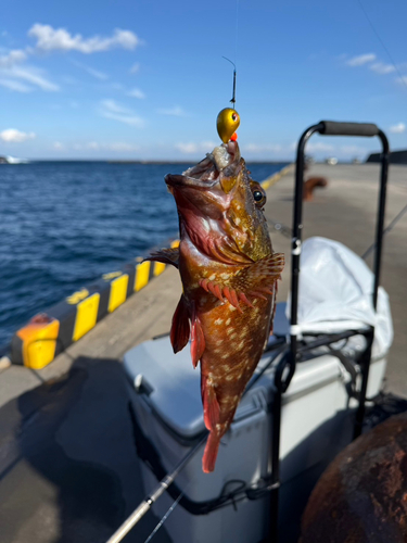
{"type": "Polygon", "coordinates": [[[310,495],[300,542],[407,542],[407,413],[336,456],[310,495]]]}

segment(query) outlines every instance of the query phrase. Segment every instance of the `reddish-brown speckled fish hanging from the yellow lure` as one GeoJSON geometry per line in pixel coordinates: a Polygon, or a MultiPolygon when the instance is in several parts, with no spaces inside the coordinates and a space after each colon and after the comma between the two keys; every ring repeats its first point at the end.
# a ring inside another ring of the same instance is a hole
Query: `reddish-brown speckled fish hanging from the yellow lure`
{"type": "Polygon", "coordinates": [[[204,422],[209,431],[202,468],[215,469],[219,443],[270,334],[284,254],[275,253],[264,216],[266,193],[250,177],[237,141],[216,147],[165,182],[176,201],[179,248],[148,260],[179,269],[174,352],[190,341],[201,364],[204,422]]]}

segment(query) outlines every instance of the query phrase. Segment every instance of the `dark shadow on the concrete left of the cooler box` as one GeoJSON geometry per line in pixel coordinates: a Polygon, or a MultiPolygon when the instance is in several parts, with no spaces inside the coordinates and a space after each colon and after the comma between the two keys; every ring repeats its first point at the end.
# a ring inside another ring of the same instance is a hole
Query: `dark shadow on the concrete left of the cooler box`
{"type": "MultiPolygon", "coordinates": [[[[117,361],[78,358],[0,409],[2,543],[102,543],[143,496],[117,361]]],[[[124,541],[156,522],[149,514],[124,541]]]]}

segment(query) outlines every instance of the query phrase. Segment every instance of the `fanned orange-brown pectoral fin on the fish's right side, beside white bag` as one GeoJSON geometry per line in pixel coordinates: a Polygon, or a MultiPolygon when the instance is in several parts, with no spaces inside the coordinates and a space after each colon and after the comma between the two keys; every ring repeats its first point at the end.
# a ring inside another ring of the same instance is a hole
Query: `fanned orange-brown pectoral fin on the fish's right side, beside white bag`
{"type": "Polygon", "coordinates": [[[243,295],[264,298],[274,294],[276,282],[284,269],[284,254],[274,253],[241,269],[233,278],[233,287],[243,295]]]}

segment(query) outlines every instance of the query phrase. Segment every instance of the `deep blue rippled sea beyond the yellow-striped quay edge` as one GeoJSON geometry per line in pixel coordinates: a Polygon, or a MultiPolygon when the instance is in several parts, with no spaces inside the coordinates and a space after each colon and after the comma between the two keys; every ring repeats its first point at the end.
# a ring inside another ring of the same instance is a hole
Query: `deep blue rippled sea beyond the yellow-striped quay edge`
{"type": "MultiPolygon", "coordinates": [[[[177,236],[163,178],[191,165],[0,165],[0,346],[35,314],[177,236]]],[[[285,165],[247,166],[262,181],[285,165]]]]}

